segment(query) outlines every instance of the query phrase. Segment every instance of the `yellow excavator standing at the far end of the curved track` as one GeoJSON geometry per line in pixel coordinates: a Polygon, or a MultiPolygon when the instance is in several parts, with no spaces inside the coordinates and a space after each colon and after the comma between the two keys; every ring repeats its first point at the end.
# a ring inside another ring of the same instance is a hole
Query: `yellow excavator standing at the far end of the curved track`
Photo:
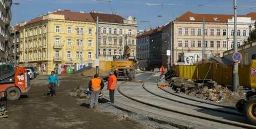
{"type": "Polygon", "coordinates": [[[127,45],[123,55],[114,54],[111,68],[117,79],[133,80],[135,78],[136,62],[135,57],[130,57],[130,49],[127,45]]]}

